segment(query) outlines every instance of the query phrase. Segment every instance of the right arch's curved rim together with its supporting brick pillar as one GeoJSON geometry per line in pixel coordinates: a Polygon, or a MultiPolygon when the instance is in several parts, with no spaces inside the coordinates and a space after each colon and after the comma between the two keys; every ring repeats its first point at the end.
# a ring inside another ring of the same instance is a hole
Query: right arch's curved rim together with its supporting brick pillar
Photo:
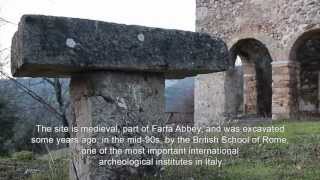
{"type": "MultiPolygon", "coordinates": [[[[280,62],[272,66],[273,119],[296,118],[296,116],[301,116],[301,111],[304,111],[301,108],[301,105],[303,105],[301,103],[303,94],[303,91],[301,91],[303,86],[301,74],[303,74],[304,68],[301,68],[301,57],[299,60],[298,51],[308,39],[316,34],[320,35],[319,24],[305,25],[303,28],[298,28],[295,34],[290,35],[287,37],[288,40],[283,42],[284,48],[282,49],[283,53],[280,56],[280,62]]],[[[308,70],[306,73],[309,73],[308,70]]],[[[311,99],[317,100],[318,98],[311,99]]]]}

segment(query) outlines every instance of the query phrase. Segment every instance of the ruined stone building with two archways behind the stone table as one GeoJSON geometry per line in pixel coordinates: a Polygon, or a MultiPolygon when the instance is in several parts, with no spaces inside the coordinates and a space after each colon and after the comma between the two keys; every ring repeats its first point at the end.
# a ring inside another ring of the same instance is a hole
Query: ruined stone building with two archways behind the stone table
{"type": "Polygon", "coordinates": [[[196,30],[222,38],[230,70],[197,76],[195,123],[320,112],[319,0],[197,0],[196,30]],[[242,66],[234,66],[241,60],[242,66]]]}

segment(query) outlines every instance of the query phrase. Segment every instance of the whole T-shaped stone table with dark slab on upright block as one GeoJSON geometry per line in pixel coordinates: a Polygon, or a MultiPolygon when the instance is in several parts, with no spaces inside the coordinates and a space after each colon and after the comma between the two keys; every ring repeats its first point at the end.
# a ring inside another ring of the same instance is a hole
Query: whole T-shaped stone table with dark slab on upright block
{"type": "MultiPolygon", "coordinates": [[[[163,126],[165,78],[228,68],[223,41],[207,34],[101,21],[25,15],[12,41],[16,77],[71,77],[70,125],[163,126]]],[[[116,134],[71,133],[72,137],[116,134]]],[[[117,134],[122,137],[153,133],[117,134]]],[[[99,159],[157,159],[154,155],[83,155],[83,148],[149,148],[161,144],[71,144],[71,179],[127,179],[155,175],[158,166],[98,166],[99,159]]]]}

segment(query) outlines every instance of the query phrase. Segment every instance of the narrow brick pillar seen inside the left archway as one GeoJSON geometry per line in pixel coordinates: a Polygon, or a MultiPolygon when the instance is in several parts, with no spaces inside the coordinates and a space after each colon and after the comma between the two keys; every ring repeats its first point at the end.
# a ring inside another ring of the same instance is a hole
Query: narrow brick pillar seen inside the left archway
{"type": "Polygon", "coordinates": [[[254,63],[243,63],[244,114],[257,114],[257,80],[254,63]]]}

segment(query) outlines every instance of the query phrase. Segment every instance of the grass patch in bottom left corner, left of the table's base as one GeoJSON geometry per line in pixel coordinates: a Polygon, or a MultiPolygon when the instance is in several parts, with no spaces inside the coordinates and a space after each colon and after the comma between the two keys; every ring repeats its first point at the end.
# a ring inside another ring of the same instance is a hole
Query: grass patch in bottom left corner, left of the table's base
{"type": "Polygon", "coordinates": [[[68,180],[69,160],[66,150],[36,157],[32,152],[21,151],[10,157],[0,157],[1,180],[68,180]]]}

